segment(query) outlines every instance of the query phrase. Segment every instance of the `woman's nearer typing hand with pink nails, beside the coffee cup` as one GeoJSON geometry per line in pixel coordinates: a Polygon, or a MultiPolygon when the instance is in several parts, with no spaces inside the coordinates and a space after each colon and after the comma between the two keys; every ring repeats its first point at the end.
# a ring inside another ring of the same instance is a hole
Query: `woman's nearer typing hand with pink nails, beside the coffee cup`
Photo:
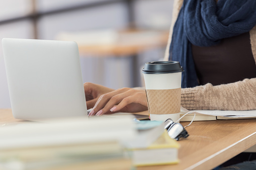
{"type": "MultiPolygon", "coordinates": [[[[103,86],[104,87],[104,86],[103,86]]],[[[147,110],[145,90],[122,88],[101,95],[89,116],[114,112],[140,112],[147,110]]]]}

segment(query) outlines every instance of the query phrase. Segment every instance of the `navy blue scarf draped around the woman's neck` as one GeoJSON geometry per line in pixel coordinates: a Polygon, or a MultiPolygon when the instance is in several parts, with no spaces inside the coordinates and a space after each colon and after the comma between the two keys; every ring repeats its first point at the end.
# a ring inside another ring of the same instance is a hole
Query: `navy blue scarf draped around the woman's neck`
{"type": "Polygon", "coordinates": [[[184,0],[174,26],[169,60],[184,68],[182,88],[198,85],[192,46],[213,46],[256,25],[256,0],[184,0]]]}

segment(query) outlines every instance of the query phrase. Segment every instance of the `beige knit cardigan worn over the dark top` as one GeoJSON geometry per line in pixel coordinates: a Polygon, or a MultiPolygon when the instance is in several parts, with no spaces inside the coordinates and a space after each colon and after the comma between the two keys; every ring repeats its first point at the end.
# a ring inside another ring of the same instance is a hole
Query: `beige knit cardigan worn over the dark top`
{"type": "MultiPolygon", "coordinates": [[[[182,4],[183,0],[174,2],[173,20],[164,56],[166,61],[169,56],[173,27],[182,4]]],[[[256,63],[256,26],[250,31],[250,43],[256,63]]],[[[204,86],[184,88],[182,89],[181,105],[188,110],[254,110],[256,109],[256,78],[218,86],[208,83],[204,86]]]]}

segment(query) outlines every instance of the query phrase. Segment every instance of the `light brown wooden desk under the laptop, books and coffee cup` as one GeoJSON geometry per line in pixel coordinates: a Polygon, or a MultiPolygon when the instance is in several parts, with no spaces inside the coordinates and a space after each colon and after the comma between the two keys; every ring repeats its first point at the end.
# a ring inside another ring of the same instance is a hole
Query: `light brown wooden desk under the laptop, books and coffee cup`
{"type": "MultiPolygon", "coordinates": [[[[0,109],[1,126],[22,122],[11,109],[0,109]]],[[[137,169],[212,169],[256,144],[256,119],[198,121],[186,129],[190,136],[179,141],[179,164],[137,169]]]]}

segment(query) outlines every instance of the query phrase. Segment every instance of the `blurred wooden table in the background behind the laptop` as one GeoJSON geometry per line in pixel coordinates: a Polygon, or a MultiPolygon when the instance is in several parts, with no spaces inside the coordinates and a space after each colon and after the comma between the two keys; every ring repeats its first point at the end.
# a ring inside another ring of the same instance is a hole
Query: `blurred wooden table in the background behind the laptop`
{"type": "MultiPolygon", "coordinates": [[[[101,42],[99,37],[101,32],[97,35],[97,31],[93,32],[90,36],[87,33],[86,36],[83,33],[66,33],[60,34],[57,36],[58,40],[64,41],[76,41],[79,49],[79,54],[82,58],[87,56],[95,56],[108,58],[115,56],[116,58],[122,57],[131,57],[132,58],[132,69],[130,72],[133,77],[133,87],[138,87],[140,85],[140,65],[138,63],[138,55],[141,52],[152,50],[156,48],[166,47],[168,40],[169,31],[157,31],[157,30],[119,30],[119,31],[110,31],[109,36],[108,32],[103,33],[102,36],[107,39],[107,41],[101,42]],[[113,40],[111,39],[113,37],[113,40]],[[95,41],[95,39],[99,40],[95,41]],[[90,44],[92,42],[92,44],[90,44]]],[[[159,56],[162,57],[163,56],[159,56]]],[[[117,70],[121,72],[121,70],[117,70]]]]}

